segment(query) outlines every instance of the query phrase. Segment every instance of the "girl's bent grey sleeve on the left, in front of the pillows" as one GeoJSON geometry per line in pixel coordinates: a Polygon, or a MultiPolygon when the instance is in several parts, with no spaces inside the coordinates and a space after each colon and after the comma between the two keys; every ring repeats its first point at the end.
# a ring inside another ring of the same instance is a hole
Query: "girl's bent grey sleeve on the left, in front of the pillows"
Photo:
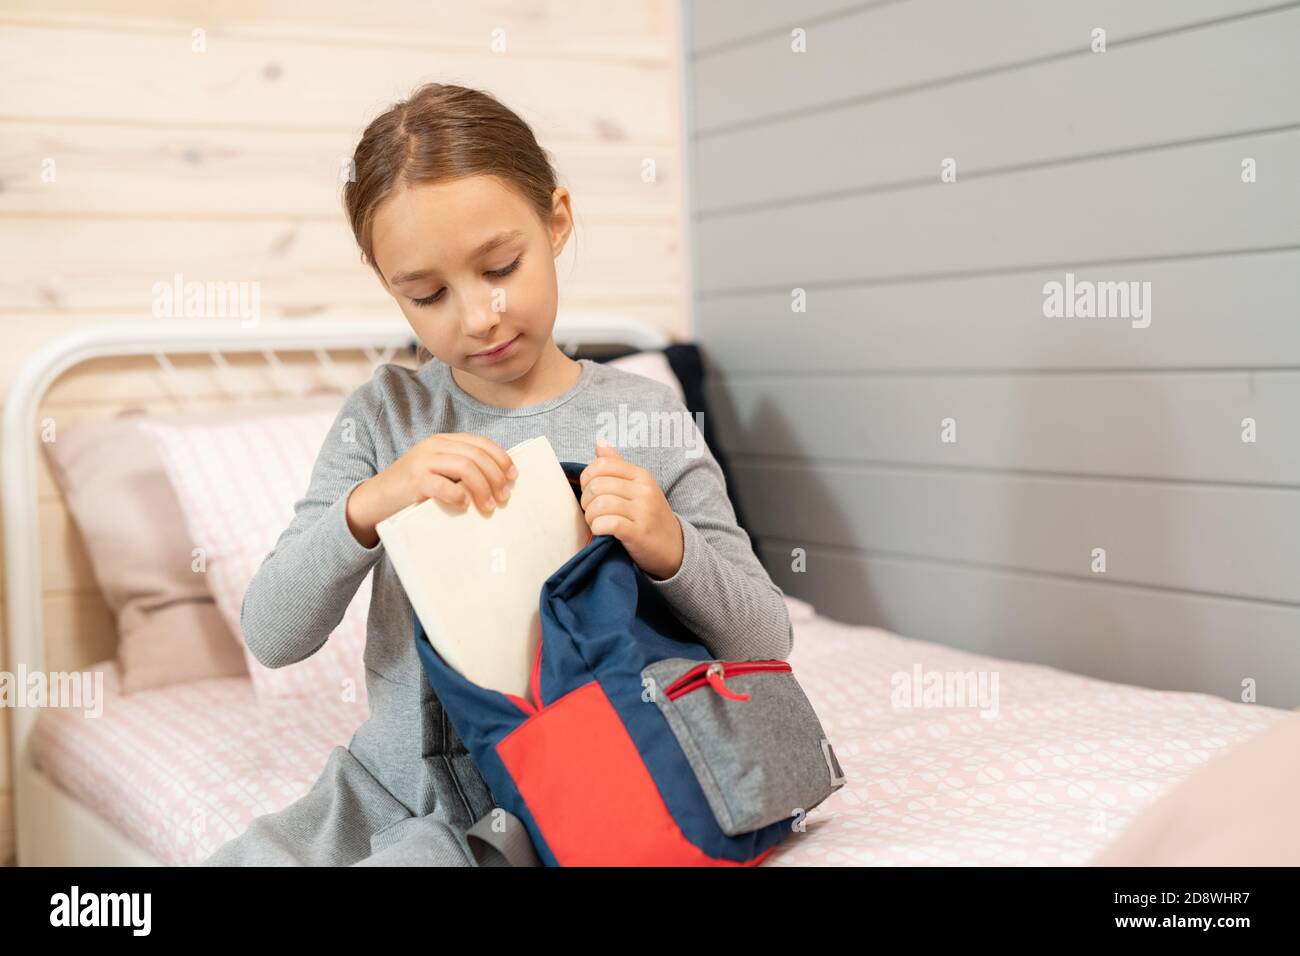
{"type": "Polygon", "coordinates": [[[384,545],[365,548],[347,527],[347,498],[376,473],[370,428],[376,380],[343,402],[312,468],[294,518],[244,593],[239,627],[261,663],[283,667],[311,657],[338,627],[384,545]]]}

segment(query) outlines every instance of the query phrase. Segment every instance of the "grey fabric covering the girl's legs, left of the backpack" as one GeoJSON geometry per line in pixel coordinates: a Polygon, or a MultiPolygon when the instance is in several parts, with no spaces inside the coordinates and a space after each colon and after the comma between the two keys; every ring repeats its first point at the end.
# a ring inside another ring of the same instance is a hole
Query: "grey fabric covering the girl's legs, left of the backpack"
{"type": "MultiPolygon", "coordinates": [[[[482,858],[482,857],[480,857],[482,858]]],[[[257,817],[200,866],[477,866],[464,832],[416,817],[335,747],[312,788],[257,817]]],[[[482,865],[499,865],[485,858],[482,865]]]]}

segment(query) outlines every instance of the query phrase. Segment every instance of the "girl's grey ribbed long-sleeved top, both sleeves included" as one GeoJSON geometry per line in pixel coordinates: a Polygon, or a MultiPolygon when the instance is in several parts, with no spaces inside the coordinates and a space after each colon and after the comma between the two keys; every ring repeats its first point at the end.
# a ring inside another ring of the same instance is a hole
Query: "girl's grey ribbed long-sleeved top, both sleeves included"
{"type": "MultiPolygon", "coordinates": [[[[503,449],[545,434],[562,462],[592,462],[602,421],[637,412],[688,415],[666,385],[581,359],[577,384],[524,408],[485,405],[430,359],[419,369],[380,365],[339,410],[294,518],[244,594],[240,628],[254,656],[283,667],[316,653],[372,570],[365,685],[370,717],[348,749],[411,813],[468,827],[493,808],[486,784],[450,726],[416,656],[411,602],[384,545],[363,546],[347,527],[352,490],[430,434],[484,434],[503,449]]],[[[722,468],[702,438],[690,446],[612,441],[645,467],[681,519],[684,554],[672,578],[654,581],[676,615],[719,659],[789,657],[793,630],[784,592],[736,524],[722,468]]],[[[474,505],[471,505],[474,507],[474,505]]]]}

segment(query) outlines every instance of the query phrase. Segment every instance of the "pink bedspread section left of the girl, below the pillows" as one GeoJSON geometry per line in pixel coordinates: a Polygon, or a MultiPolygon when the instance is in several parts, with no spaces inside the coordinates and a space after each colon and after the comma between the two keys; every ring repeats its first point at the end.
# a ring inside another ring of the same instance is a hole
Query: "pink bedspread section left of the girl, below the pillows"
{"type": "Polygon", "coordinates": [[[247,676],[124,697],[116,662],[94,670],[104,671],[103,715],[42,710],[36,763],[170,865],[205,860],[254,817],[306,793],[367,717],[364,704],[337,698],[260,704],[247,676]]]}

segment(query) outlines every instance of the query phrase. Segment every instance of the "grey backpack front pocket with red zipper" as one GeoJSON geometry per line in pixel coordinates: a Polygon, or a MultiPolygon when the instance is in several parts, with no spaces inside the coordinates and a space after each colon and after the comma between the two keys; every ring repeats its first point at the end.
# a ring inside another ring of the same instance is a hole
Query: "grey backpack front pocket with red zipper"
{"type": "Polygon", "coordinates": [[[844,786],[785,661],[670,657],[645,667],[641,680],[728,836],[811,810],[844,786]]]}

